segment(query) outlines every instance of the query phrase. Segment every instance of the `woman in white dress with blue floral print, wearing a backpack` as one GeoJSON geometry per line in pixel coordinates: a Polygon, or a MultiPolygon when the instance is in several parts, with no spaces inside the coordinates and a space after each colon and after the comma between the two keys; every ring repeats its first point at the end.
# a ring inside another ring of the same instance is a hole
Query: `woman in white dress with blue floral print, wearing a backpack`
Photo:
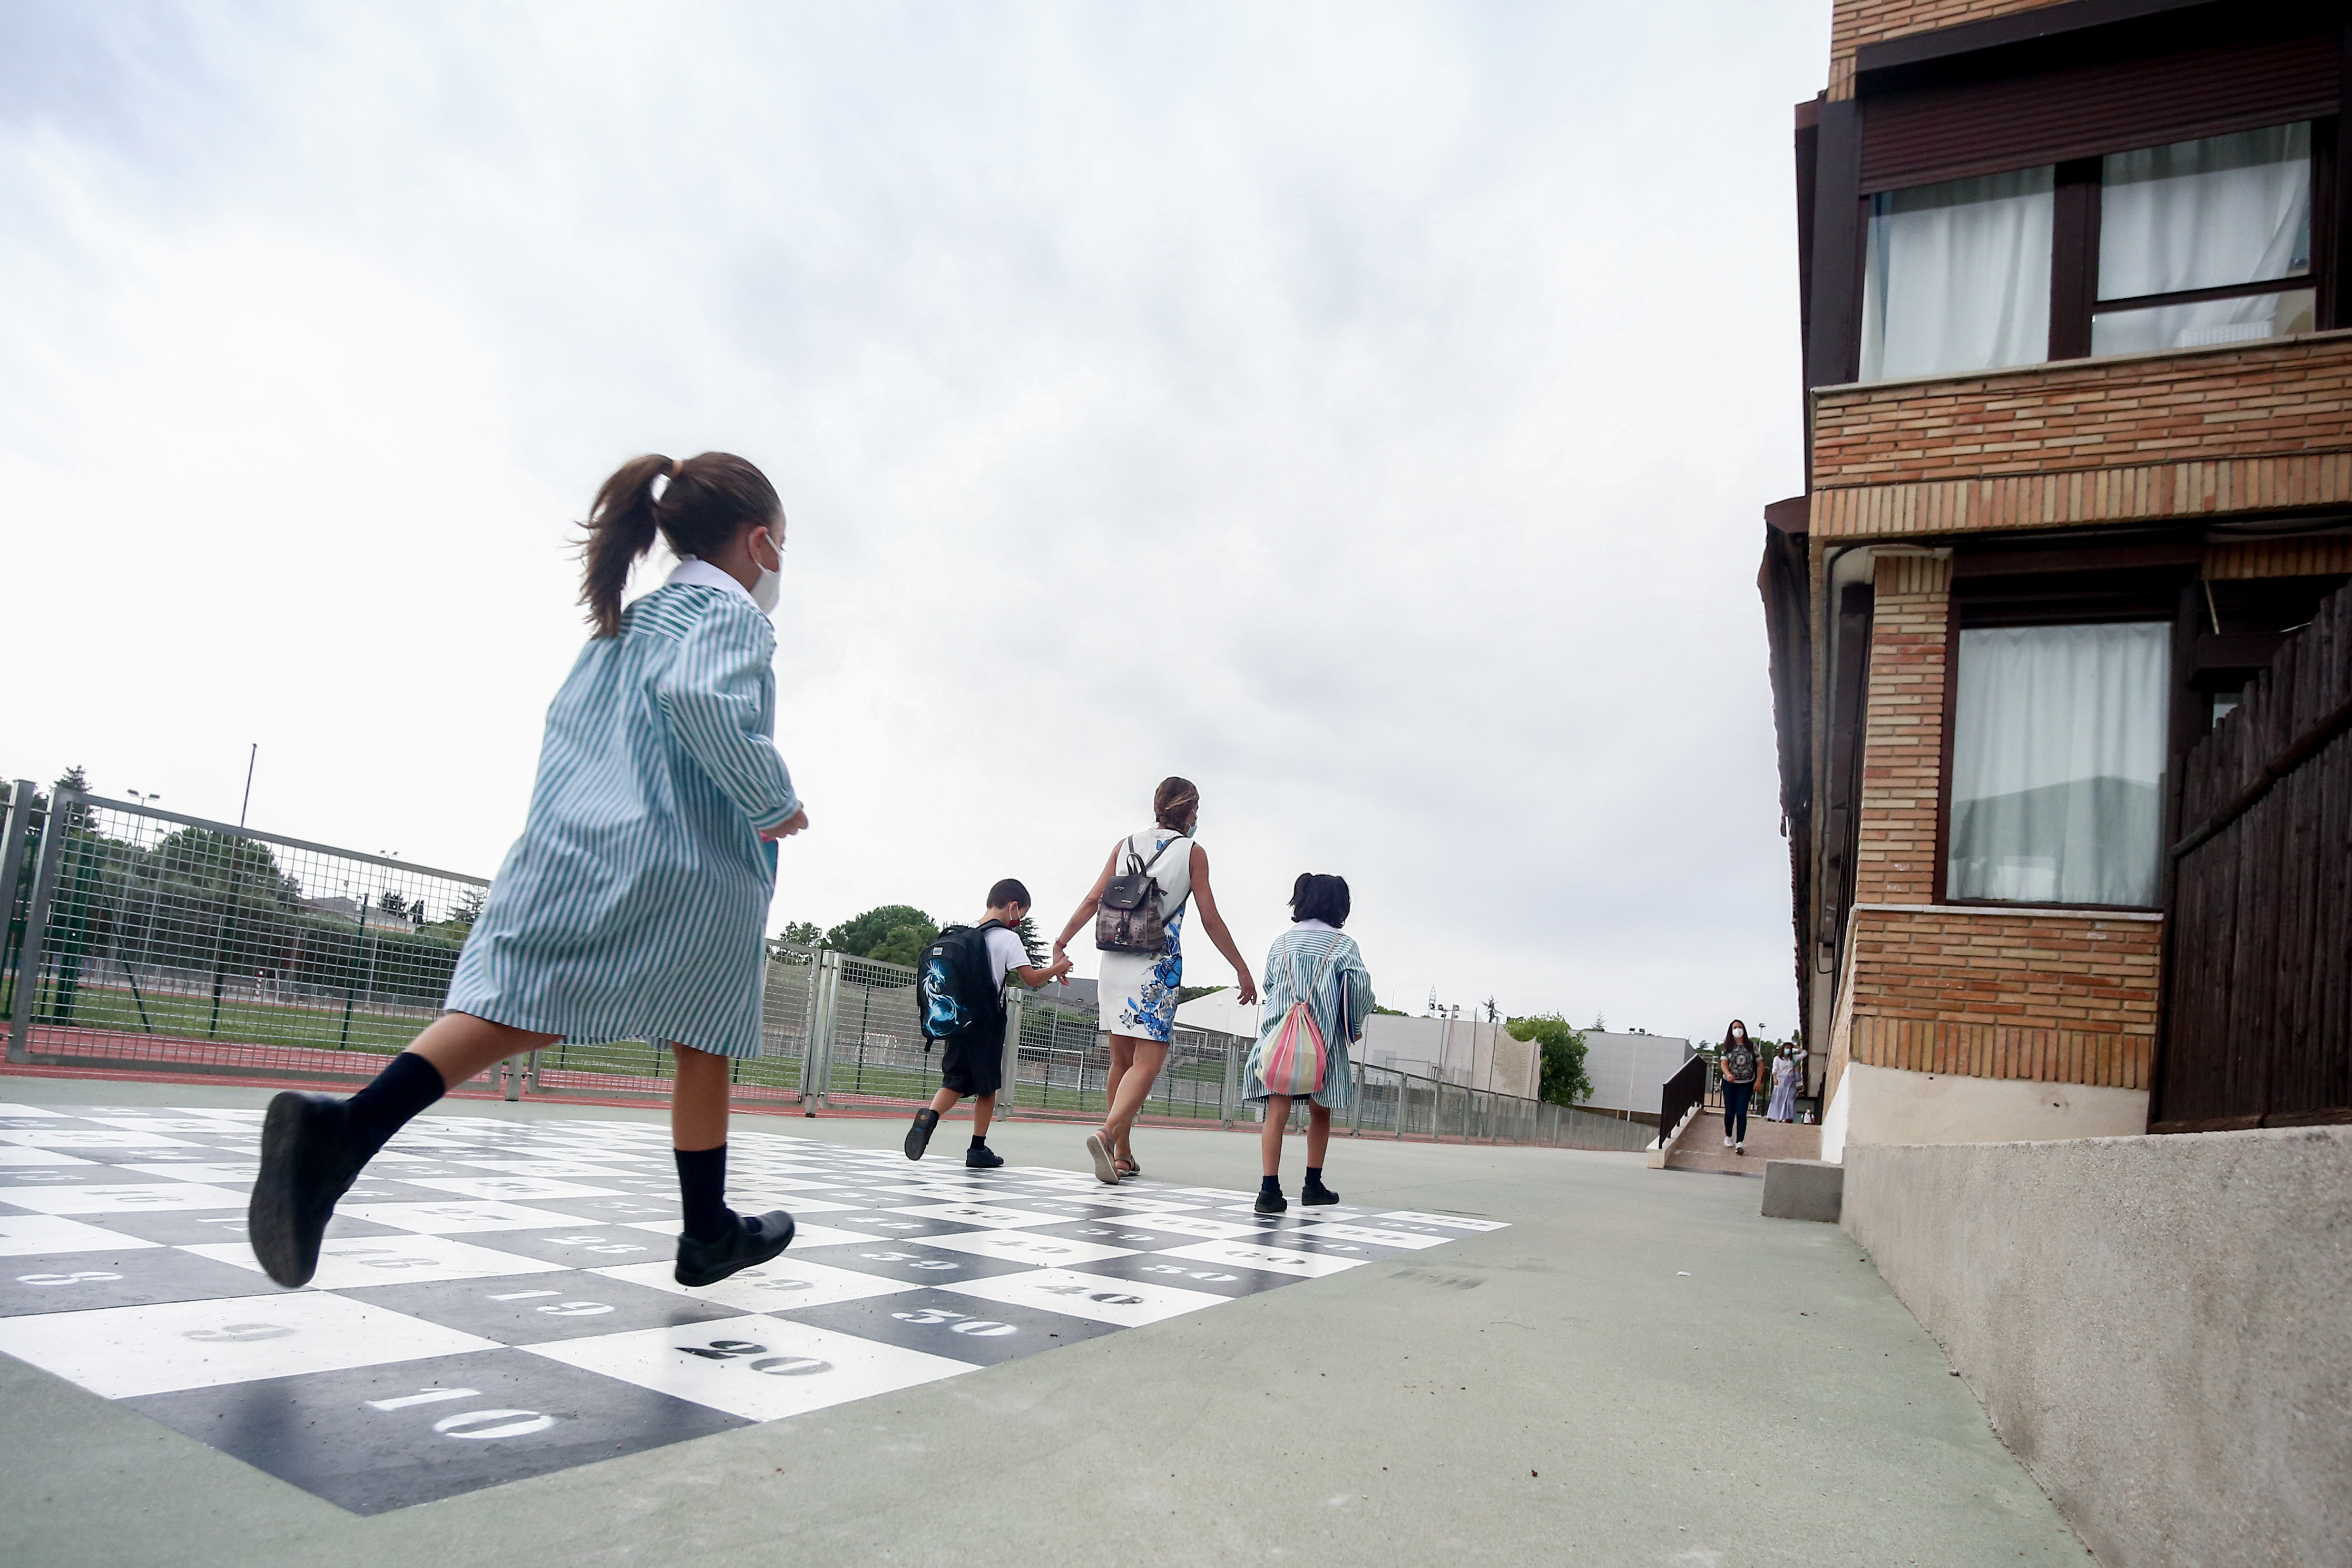
{"type": "Polygon", "coordinates": [[[1094,891],[1054,940],[1054,961],[1058,964],[1070,938],[1101,910],[1103,891],[1112,877],[1145,867],[1150,879],[1160,884],[1157,912],[1167,931],[1160,950],[1103,950],[1098,969],[1101,1016],[1110,1032],[1110,1079],[1103,1128],[1087,1135],[1087,1154],[1094,1159],[1094,1175],[1105,1185],[1117,1185],[1122,1175],[1143,1173],[1131,1135],[1136,1114],[1143,1110],[1160,1067],[1167,1065],[1169,1039],[1176,1032],[1176,992],[1183,985],[1183,912],[1190,900],[1200,900],[1202,931],[1225,954],[1242,983],[1242,1006],[1258,999],[1258,983],[1249,978],[1249,964],[1216,912],[1216,893],[1209,891],[1209,851],[1192,842],[1197,820],[1200,790],[1185,778],[1162,778],[1152,792],[1152,825],[1110,846],[1110,858],[1103,860],[1103,875],[1094,879],[1094,891]]]}

